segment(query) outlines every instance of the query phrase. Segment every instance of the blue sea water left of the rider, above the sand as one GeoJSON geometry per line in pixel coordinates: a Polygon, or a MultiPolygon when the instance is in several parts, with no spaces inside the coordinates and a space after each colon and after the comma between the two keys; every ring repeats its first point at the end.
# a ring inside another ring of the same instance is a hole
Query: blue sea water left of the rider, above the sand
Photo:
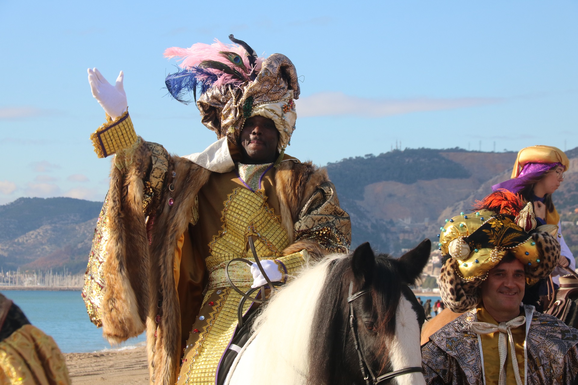
{"type": "Polygon", "coordinates": [[[143,345],[144,333],[120,345],[110,346],[84,307],[80,291],[12,291],[2,294],[24,312],[31,324],[54,338],[62,353],[97,352],[143,345]]]}

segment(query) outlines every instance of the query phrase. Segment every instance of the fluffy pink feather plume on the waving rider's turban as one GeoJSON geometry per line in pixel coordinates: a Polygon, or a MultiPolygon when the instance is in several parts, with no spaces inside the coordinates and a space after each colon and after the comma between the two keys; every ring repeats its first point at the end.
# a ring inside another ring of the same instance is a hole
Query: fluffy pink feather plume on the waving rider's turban
{"type": "MultiPolygon", "coordinates": [[[[247,51],[245,51],[242,46],[238,44],[224,44],[217,39],[215,39],[213,44],[196,43],[189,48],[166,48],[164,57],[169,59],[178,58],[177,61],[180,61],[179,66],[183,69],[195,68],[199,65],[199,63],[205,60],[221,62],[243,74],[243,76],[246,78],[245,80],[250,80],[250,74],[253,72],[253,70],[255,73],[258,73],[261,70],[261,63],[264,61],[264,58],[262,57],[257,58],[255,67],[251,68],[249,58],[247,57],[247,51]],[[241,57],[244,68],[246,70],[243,69],[243,67],[235,66],[229,62],[228,59],[225,58],[223,54],[221,54],[223,51],[238,54],[241,57]]],[[[230,74],[224,73],[218,69],[207,68],[205,69],[205,72],[209,72],[217,76],[217,81],[213,84],[216,86],[224,84],[239,85],[242,83],[242,81],[239,81],[238,79],[232,77],[230,74]]],[[[208,75],[199,73],[197,78],[199,80],[205,80],[208,78],[208,75]]]]}

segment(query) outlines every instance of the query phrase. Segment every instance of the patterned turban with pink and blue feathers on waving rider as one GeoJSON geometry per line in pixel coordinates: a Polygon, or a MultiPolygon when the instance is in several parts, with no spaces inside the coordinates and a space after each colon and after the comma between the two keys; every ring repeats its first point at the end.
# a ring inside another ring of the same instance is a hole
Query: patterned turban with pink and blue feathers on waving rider
{"type": "Polygon", "coordinates": [[[218,139],[228,137],[237,144],[247,118],[260,115],[272,119],[279,131],[279,159],[283,158],[295,130],[294,99],[299,98],[295,66],[285,55],[257,57],[247,43],[229,35],[236,44],[197,43],[190,48],[167,48],[165,57],[180,58],[179,72],[165,79],[169,94],[182,103],[192,92],[201,122],[218,139]],[[197,89],[200,96],[197,99],[197,89]]]}

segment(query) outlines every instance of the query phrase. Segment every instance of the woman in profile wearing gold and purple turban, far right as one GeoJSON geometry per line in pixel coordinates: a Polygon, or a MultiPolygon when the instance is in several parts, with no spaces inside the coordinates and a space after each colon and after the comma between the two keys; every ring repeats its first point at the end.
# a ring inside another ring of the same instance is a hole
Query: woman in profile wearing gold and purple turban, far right
{"type": "MultiPolygon", "coordinates": [[[[518,152],[512,171],[512,179],[492,186],[492,190],[505,189],[518,194],[524,201],[533,202],[534,214],[538,226],[557,225],[560,242],[560,261],[558,266],[575,270],[576,262],[562,237],[560,214],[552,203],[552,194],[564,181],[564,171],[568,170],[568,156],[556,147],[535,145],[518,152]]],[[[558,285],[558,277],[567,272],[555,268],[553,281],[558,285]]]]}

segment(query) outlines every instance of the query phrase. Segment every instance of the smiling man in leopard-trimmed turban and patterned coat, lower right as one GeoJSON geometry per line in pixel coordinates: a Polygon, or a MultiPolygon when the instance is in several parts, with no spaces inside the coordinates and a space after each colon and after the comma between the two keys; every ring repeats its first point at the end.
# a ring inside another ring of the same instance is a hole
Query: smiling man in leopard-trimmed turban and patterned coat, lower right
{"type": "MultiPolygon", "coordinates": [[[[578,330],[522,302],[560,259],[557,226],[497,190],[442,227],[442,301],[463,313],[422,346],[427,384],[574,384],[578,330]]],[[[442,312],[443,314],[443,312],[442,312]]]]}

